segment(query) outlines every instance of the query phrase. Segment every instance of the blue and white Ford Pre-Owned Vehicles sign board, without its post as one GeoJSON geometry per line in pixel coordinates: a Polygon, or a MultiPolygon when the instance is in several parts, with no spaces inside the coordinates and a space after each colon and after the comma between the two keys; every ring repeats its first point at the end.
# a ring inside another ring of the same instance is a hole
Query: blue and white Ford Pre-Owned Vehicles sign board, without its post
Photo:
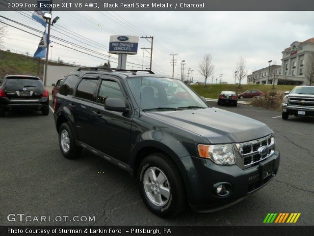
{"type": "Polygon", "coordinates": [[[109,53],[137,54],[138,36],[111,35],[109,53]]]}

